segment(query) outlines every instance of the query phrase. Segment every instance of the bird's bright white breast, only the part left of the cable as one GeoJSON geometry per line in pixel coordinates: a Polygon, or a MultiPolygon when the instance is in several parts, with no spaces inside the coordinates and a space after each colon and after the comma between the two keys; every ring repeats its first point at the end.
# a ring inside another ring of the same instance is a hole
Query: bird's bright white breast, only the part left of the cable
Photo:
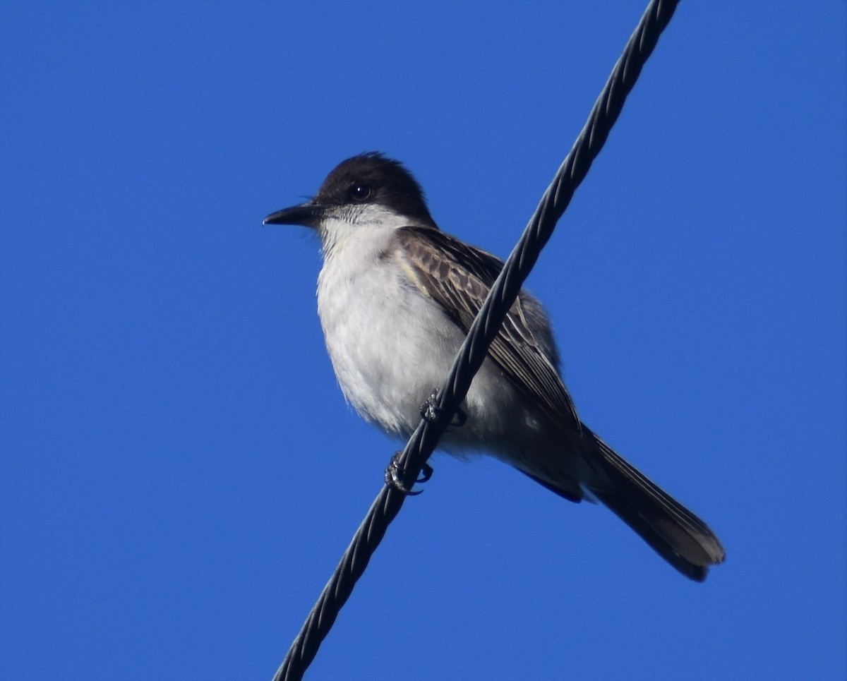
{"type": "Polygon", "coordinates": [[[443,383],[462,335],[410,285],[393,229],[353,229],[357,234],[326,250],[318,277],[329,357],[357,412],[407,435],[420,420],[420,406],[443,383]]]}

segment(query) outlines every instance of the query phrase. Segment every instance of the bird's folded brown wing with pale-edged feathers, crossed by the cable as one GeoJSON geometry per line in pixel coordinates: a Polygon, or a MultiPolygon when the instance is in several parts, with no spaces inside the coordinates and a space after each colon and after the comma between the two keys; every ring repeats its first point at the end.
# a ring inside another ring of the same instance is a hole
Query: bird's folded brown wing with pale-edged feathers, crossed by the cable
{"type": "MultiPolygon", "coordinates": [[[[420,291],[444,307],[462,332],[468,333],[503,268],[501,260],[429,227],[401,227],[396,236],[420,291]]],[[[579,429],[573,402],[556,371],[556,350],[551,346],[550,356],[545,354],[529,328],[527,297],[522,292],[512,305],[489,356],[556,424],[579,429]]]]}

